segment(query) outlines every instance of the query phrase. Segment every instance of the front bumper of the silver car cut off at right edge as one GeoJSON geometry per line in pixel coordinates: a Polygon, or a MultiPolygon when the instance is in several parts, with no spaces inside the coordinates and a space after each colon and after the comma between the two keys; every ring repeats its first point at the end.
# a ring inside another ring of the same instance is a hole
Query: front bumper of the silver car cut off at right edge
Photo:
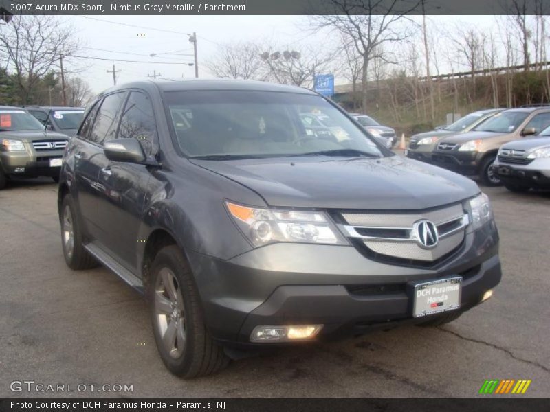
{"type": "Polygon", "coordinates": [[[504,183],[550,188],[550,159],[535,159],[528,165],[511,165],[496,160],[493,170],[504,183]]]}

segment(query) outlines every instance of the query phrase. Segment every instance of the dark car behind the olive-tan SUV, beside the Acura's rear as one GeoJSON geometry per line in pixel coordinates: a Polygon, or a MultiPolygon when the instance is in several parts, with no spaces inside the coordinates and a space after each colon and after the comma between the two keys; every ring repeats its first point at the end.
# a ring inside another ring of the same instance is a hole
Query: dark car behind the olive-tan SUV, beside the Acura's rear
{"type": "Polygon", "coordinates": [[[84,109],[67,106],[23,106],[31,115],[39,119],[48,130],[63,133],[69,137],[76,135],[84,109]]]}

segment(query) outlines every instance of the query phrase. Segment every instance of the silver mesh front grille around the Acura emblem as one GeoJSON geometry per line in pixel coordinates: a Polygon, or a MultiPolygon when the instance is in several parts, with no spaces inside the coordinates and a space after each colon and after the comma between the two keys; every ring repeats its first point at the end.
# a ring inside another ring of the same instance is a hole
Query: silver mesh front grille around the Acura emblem
{"type": "Polygon", "coordinates": [[[461,205],[415,213],[342,213],[340,229],[369,257],[395,262],[436,264],[463,243],[470,219],[461,205]],[[434,247],[421,246],[417,222],[429,220],[437,228],[434,247]]]}

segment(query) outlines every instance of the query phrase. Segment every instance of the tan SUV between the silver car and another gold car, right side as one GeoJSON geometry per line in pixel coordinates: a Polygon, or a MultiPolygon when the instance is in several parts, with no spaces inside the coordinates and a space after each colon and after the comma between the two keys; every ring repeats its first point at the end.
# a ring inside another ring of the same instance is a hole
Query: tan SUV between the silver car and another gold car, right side
{"type": "Polygon", "coordinates": [[[444,137],[432,152],[432,163],[485,185],[500,185],[492,168],[498,149],[520,137],[536,135],[550,124],[550,107],[511,108],[497,113],[468,133],[444,137]]]}

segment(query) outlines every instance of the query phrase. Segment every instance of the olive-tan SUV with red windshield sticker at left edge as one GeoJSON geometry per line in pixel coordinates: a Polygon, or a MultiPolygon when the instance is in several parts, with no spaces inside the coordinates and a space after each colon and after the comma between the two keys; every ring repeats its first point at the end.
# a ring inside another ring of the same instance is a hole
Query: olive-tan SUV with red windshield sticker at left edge
{"type": "Polygon", "coordinates": [[[0,190],[12,176],[50,176],[58,181],[67,140],[45,130],[23,108],[0,106],[0,190]]]}

